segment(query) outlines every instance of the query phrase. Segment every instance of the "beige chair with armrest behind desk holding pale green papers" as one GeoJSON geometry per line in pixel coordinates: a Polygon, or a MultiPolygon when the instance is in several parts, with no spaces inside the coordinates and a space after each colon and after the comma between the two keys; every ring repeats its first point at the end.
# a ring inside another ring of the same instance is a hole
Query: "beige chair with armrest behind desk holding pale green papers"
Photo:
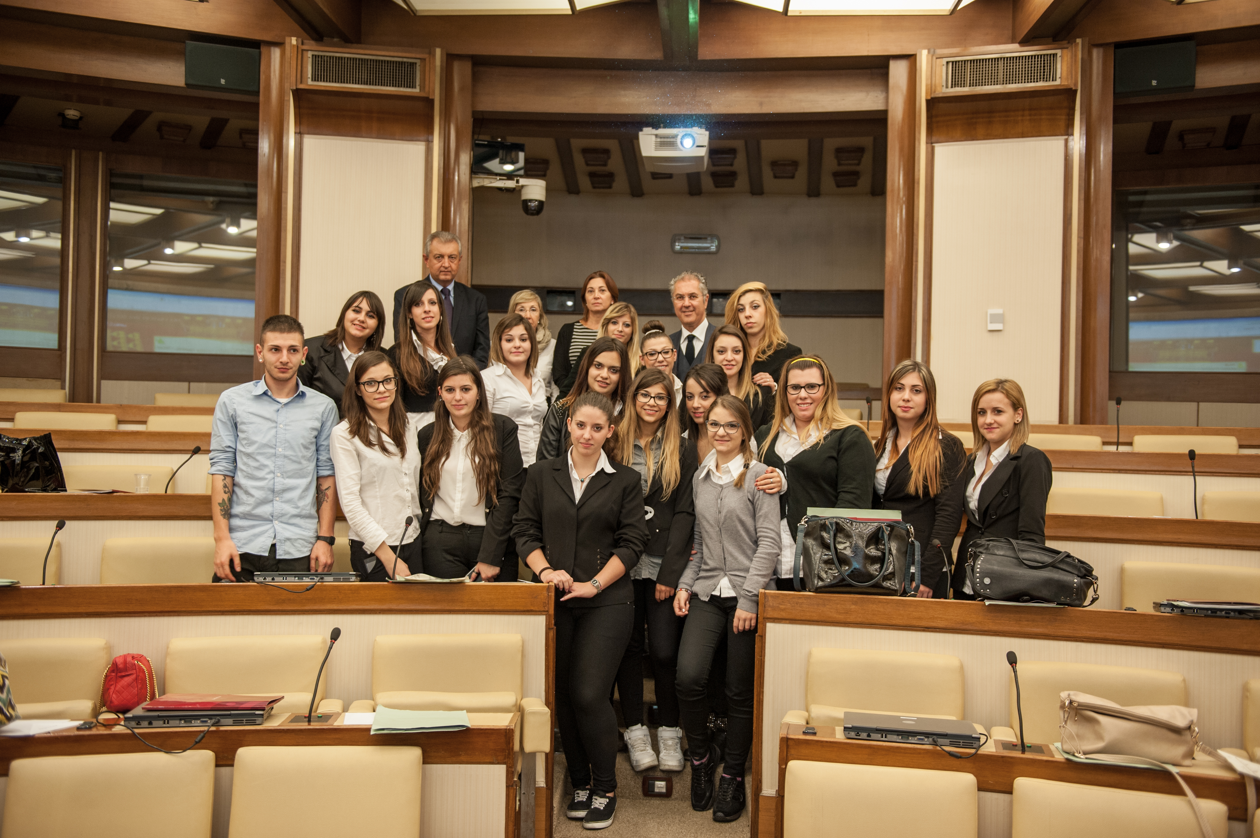
{"type": "Polygon", "coordinates": [[[372,701],[350,704],[370,713],[393,709],[464,709],[520,713],[518,745],[551,750],[551,709],[524,692],[525,643],[519,634],[381,634],[372,649],[372,701]]]}

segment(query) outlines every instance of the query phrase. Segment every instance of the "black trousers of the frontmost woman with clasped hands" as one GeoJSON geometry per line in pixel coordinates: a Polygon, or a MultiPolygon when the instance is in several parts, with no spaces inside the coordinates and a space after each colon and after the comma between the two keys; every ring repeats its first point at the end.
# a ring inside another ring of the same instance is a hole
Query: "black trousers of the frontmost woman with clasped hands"
{"type": "Polygon", "coordinates": [[[617,788],[617,716],[609,692],[630,640],[634,605],[556,605],[556,722],[575,789],[617,788]]]}

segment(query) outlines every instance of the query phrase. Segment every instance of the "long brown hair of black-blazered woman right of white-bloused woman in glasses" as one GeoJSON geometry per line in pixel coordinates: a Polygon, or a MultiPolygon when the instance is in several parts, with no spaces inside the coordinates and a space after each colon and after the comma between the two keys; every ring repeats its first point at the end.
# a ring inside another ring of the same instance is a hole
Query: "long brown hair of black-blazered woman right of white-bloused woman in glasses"
{"type": "Polygon", "coordinates": [[[478,496],[481,502],[499,503],[499,440],[494,431],[494,415],[485,403],[485,386],[481,383],[481,370],[467,355],[451,358],[437,373],[437,402],[433,405],[433,437],[425,451],[425,465],[421,469],[421,485],[431,498],[436,498],[442,488],[442,465],[451,455],[455,431],[451,427],[451,415],[442,401],[442,384],[455,376],[467,376],[476,386],[476,405],[469,417],[469,459],[472,461],[472,474],[476,476],[478,496]]]}

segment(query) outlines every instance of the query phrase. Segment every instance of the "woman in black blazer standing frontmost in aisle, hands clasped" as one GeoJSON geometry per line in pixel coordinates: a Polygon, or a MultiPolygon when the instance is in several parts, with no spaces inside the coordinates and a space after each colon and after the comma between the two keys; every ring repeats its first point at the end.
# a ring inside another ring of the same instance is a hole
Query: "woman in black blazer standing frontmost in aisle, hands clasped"
{"type": "Polygon", "coordinates": [[[609,702],[634,625],[634,570],[648,546],[639,473],[604,451],[612,402],[577,397],[572,447],[529,466],[513,534],[556,604],[556,720],[573,783],[567,817],[600,829],[616,809],[617,718],[609,702]]]}

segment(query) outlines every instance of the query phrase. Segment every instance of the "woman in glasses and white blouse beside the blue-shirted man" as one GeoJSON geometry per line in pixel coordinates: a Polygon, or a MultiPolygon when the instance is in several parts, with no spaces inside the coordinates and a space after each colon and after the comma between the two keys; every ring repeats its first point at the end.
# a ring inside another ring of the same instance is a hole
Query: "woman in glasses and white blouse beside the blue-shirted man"
{"type": "Polygon", "coordinates": [[[359,355],[341,397],[345,418],[333,428],[350,566],[369,582],[420,570],[420,416],[403,408],[398,382],[383,352],[359,355]]]}

